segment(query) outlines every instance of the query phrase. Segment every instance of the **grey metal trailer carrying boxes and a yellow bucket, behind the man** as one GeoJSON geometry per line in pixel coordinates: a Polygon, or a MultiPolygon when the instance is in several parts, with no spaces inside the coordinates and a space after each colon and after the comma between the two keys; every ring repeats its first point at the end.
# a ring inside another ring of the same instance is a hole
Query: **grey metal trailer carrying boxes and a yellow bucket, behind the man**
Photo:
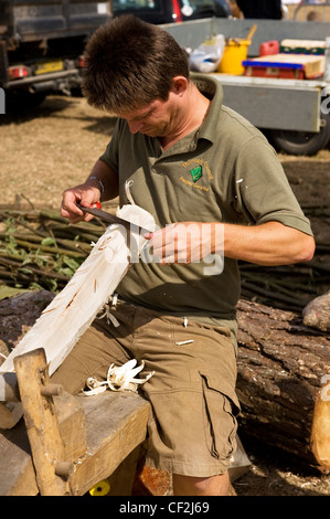
{"type": "MultiPolygon", "coordinates": [[[[207,19],[163,25],[180,45],[191,52],[216,34],[246,39],[256,25],[247,57],[257,57],[262,43],[269,41],[324,40],[328,22],[290,20],[207,19]]],[[[327,56],[326,56],[327,61],[327,56]]],[[[326,70],[327,72],[327,70],[326,70]]],[[[330,139],[330,82],[327,74],[315,80],[252,77],[212,73],[224,91],[224,104],[265,131],[281,151],[315,155],[330,139]]]]}

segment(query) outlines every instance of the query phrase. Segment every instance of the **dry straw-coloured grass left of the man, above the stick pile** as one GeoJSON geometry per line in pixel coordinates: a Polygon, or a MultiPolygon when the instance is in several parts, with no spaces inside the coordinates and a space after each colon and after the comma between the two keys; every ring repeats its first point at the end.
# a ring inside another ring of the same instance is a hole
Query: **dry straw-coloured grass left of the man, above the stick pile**
{"type": "Polygon", "coordinates": [[[82,182],[109,141],[114,119],[83,98],[50,97],[34,114],[0,116],[1,204],[28,199],[57,208],[62,191],[82,182]]]}

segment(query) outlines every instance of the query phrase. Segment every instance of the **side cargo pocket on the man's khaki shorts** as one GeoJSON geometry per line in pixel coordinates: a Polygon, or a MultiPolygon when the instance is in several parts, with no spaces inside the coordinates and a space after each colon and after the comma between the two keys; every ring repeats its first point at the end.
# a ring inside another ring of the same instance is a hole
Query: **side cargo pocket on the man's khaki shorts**
{"type": "Polygon", "coordinates": [[[236,448],[236,416],[239,402],[235,391],[219,373],[200,372],[205,405],[206,443],[212,456],[230,458],[236,448]]]}

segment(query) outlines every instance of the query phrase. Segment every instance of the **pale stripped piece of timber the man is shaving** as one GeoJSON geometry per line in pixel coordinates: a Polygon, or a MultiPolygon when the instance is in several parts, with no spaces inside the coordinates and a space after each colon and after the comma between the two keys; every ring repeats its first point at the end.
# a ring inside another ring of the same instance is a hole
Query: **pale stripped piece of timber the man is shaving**
{"type": "MultiPolygon", "coordinates": [[[[148,229],[155,226],[153,218],[137,205],[124,205],[117,214],[140,226],[148,229]]],[[[17,409],[20,403],[11,402],[17,386],[15,357],[43,348],[49,373],[52,375],[108,301],[129,268],[130,262],[137,261],[143,243],[145,240],[134,226],[129,240],[123,225],[109,225],[106,229],[64,289],[43,310],[41,317],[1,364],[0,401],[3,404],[0,420],[1,416],[4,416],[4,420],[0,422],[0,427],[12,426],[8,411],[14,414],[14,423],[17,416],[21,415],[17,409]]]]}

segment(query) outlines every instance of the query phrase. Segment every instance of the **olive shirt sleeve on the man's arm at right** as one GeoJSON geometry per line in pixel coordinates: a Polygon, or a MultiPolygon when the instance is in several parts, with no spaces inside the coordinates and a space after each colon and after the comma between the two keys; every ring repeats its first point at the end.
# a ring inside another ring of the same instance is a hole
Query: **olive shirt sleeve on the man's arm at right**
{"type": "Polygon", "coordinates": [[[277,221],[312,235],[275,150],[253,137],[241,149],[235,168],[235,199],[252,224],[277,221]]]}

